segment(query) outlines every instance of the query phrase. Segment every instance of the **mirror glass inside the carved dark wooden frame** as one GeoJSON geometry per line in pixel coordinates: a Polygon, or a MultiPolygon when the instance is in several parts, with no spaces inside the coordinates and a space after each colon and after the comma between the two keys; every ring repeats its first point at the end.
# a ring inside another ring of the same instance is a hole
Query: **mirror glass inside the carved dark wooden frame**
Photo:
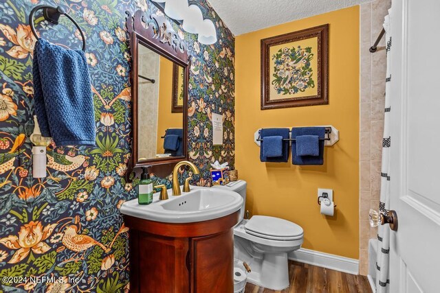
{"type": "Polygon", "coordinates": [[[184,156],[184,68],[139,43],[138,161],[184,156]]]}

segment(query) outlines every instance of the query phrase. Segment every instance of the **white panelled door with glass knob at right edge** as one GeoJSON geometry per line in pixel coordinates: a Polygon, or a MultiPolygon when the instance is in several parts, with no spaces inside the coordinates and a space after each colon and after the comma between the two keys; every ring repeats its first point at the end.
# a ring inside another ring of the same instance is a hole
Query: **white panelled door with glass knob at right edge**
{"type": "Polygon", "coordinates": [[[440,1],[393,0],[393,293],[440,292],[440,1]]]}

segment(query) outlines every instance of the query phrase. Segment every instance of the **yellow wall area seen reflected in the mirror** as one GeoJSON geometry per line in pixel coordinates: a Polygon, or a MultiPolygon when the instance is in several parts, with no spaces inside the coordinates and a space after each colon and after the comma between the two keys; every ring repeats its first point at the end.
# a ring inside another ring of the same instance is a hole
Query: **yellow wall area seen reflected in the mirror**
{"type": "Polygon", "coordinates": [[[157,154],[164,153],[164,136],[168,128],[182,128],[183,114],[171,113],[173,99],[173,62],[160,57],[159,115],[157,117],[157,154]]]}

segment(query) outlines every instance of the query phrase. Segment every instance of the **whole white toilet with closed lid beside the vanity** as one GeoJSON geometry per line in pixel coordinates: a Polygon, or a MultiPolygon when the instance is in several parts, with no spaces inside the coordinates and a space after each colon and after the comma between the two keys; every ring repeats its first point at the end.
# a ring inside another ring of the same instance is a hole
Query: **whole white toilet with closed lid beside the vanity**
{"type": "Polygon", "coordinates": [[[246,185],[244,180],[238,180],[214,186],[235,191],[243,197],[239,223],[234,226],[234,257],[249,264],[250,283],[267,289],[283,290],[289,287],[287,255],[303,244],[303,228],[267,215],[244,219],[246,185]]]}

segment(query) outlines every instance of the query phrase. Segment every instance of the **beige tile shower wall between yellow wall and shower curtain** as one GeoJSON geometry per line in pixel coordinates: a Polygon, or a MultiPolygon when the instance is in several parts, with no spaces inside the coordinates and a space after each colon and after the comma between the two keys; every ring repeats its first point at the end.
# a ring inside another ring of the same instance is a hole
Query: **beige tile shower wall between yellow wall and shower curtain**
{"type": "Polygon", "coordinates": [[[368,274],[369,239],[377,237],[370,228],[369,209],[379,209],[382,135],[384,131],[386,51],[382,38],[375,53],[369,48],[376,40],[391,0],[360,5],[360,274],[368,274]]]}

